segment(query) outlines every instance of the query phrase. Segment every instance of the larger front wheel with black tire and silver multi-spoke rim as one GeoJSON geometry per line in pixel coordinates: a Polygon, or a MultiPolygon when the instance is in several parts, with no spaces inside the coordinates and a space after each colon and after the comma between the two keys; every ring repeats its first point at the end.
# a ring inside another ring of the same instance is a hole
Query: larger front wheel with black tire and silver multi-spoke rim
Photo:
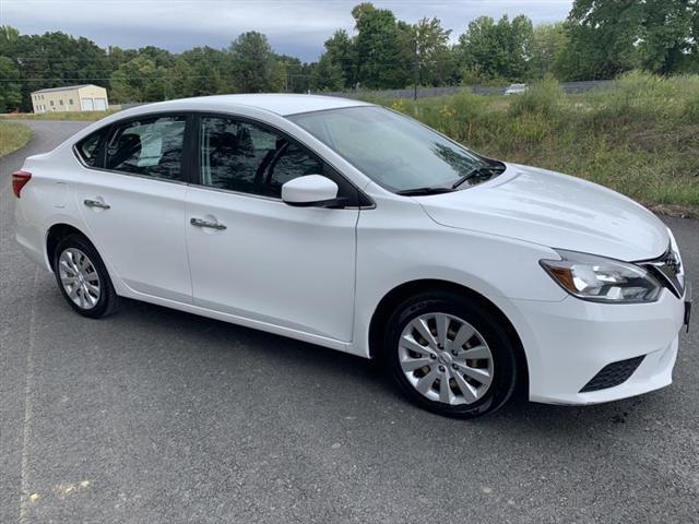
{"type": "Polygon", "coordinates": [[[400,391],[433,413],[481,417],[500,408],[516,390],[516,347],[497,315],[469,296],[411,297],[388,319],[383,343],[386,366],[400,391]]]}

